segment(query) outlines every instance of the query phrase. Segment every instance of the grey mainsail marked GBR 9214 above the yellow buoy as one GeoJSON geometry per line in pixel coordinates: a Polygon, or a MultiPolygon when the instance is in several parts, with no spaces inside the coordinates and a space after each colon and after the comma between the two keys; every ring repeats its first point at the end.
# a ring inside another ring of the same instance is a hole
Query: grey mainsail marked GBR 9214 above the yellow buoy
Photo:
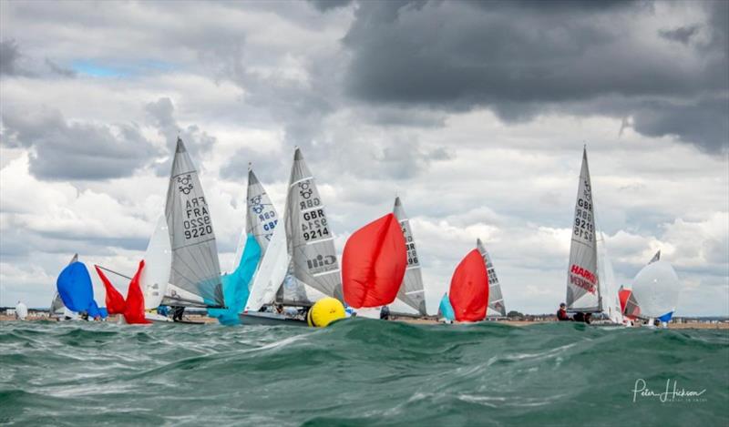
{"type": "Polygon", "coordinates": [[[344,300],[334,233],[326,218],[319,189],[299,148],[293,155],[285,224],[295,283],[344,300]]]}

